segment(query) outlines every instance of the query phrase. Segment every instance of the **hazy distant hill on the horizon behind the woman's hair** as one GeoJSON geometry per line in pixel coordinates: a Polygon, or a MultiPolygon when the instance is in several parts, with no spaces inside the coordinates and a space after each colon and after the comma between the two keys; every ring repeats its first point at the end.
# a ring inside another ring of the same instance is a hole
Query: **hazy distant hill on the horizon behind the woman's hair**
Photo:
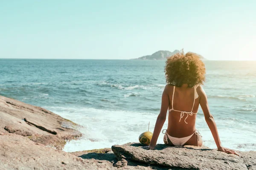
{"type": "MultiPolygon", "coordinates": [[[[166,59],[167,57],[171,57],[172,55],[177,54],[179,52],[180,52],[179,50],[175,50],[173,52],[160,50],[160,51],[155,52],[152,55],[139,57],[137,59],[157,59],[157,60],[161,60],[161,59],[166,59]]],[[[201,59],[205,60],[204,57],[202,57],[202,56],[200,56],[200,57],[201,57],[201,59]]]]}

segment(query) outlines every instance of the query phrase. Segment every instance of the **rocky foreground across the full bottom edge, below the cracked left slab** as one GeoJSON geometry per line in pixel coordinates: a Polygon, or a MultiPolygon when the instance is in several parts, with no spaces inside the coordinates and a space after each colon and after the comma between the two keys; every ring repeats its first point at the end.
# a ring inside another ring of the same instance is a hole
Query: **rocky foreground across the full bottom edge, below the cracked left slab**
{"type": "MultiPolygon", "coordinates": [[[[106,149],[108,150],[108,149],[106,149]]],[[[0,133],[0,170],[255,170],[256,152],[240,156],[207,147],[145,150],[141,144],[114,145],[108,153],[84,151],[75,156],[45,147],[24,136],[0,133]]],[[[97,150],[99,151],[99,150],[97,150]]]]}

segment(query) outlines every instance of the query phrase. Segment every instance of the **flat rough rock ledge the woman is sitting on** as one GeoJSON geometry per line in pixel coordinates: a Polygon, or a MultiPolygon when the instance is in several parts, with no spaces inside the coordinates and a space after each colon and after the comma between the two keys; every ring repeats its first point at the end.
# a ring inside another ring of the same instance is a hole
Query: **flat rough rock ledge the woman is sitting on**
{"type": "Polygon", "coordinates": [[[166,147],[157,144],[155,150],[145,150],[139,143],[112,146],[118,160],[131,160],[145,164],[173,169],[197,170],[247,170],[256,166],[256,151],[239,152],[241,155],[227,154],[207,147],[184,146],[166,147]]]}

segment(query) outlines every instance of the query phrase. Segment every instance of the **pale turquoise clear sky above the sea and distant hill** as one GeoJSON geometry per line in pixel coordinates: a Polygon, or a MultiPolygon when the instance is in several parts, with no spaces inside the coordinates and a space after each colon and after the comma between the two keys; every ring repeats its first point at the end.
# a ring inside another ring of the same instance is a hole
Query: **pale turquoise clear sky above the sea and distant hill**
{"type": "Polygon", "coordinates": [[[256,60],[255,0],[1,0],[0,58],[256,60]]]}

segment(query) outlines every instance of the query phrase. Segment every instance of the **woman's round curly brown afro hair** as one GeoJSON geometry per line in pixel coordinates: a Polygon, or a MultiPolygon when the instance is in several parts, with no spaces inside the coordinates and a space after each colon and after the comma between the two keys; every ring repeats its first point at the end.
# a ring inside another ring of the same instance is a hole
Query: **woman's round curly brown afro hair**
{"type": "Polygon", "coordinates": [[[205,65],[200,56],[192,52],[184,54],[183,50],[167,59],[164,72],[166,82],[178,87],[183,84],[192,87],[205,81],[205,65]]]}

